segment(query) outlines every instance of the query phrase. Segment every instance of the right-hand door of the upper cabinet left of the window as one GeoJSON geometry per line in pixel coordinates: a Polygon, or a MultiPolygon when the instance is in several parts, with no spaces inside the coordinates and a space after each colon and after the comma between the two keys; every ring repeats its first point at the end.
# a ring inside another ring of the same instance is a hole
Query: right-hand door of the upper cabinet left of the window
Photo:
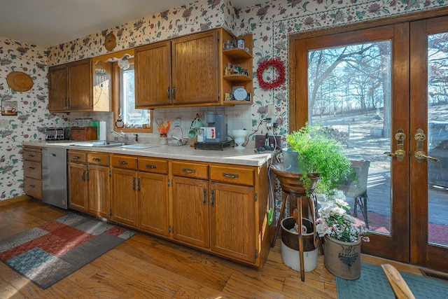
{"type": "Polygon", "coordinates": [[[92,60],[80,60],[68,64],[69,110],[91,111],[92,102],[92,60]]]}

